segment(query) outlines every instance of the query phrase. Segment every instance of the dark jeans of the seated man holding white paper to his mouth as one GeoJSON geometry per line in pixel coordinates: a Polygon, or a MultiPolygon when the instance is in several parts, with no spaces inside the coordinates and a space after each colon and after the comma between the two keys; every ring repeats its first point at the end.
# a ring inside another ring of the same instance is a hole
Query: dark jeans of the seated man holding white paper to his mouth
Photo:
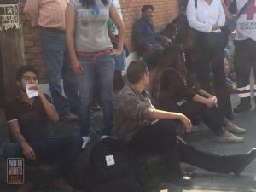
{"type": "MultiPolygon", "coordinates": [[[[58,164],[55,177],[67,177],[71,163],[79,154],[82,138],[79,135],[50,137],[29,143],[36,154],[36,160],[26,160],[27,164],[58,164]]],[[[9,143],[3,148],[4,158],[21,158],[22,148],[19,143],[9,143]]]]}

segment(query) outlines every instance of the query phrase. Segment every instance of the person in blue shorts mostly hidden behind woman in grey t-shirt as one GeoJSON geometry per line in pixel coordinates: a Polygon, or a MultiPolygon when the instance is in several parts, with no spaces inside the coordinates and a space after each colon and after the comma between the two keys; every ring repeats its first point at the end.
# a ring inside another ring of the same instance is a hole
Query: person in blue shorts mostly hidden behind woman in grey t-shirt
{"type": "MultiPolygon", "coordinates": [[[[118,10],[120,18],[123,20],[122,9],[119,0],[112,0],[113,5],[118,10]]],[[[118,43],[119,30],[118,27],[110,19],[108,21],[108,34],[113,44],[113,48],[116,48],[118,43]]],[[[121,55],[114,57],[115,67],[114,67],[114,78],[113,78],[113,90],[121,90],[124,86],[124,80],[122,76],[122,70],[126,66],[126,51],[124,49],[121,55]]]]}

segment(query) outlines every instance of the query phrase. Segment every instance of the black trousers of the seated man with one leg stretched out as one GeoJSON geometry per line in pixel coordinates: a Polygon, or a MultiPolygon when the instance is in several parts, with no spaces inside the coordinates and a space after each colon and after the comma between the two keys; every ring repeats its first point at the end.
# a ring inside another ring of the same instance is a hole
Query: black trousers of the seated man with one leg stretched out
{"type": "Polygon", "coordinates": [[[142,128],[127,144],[136,155],[160,154],[166,160],[169,172],[181,173],[180,162],[206,169],[210,172],[230,173],[240,163],[241,155],[218,155],[177,143],[177,133],[172,120],[160,120],[142,128]]]}

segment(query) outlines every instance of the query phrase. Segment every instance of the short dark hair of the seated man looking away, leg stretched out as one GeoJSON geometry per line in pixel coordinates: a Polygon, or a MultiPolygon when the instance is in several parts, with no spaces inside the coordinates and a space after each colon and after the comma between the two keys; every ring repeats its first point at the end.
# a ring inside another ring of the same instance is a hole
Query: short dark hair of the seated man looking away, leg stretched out
{"type": "Polygon", "coordinates": [[[127,79],[131,84],[137,84],[147,72],[148,67],[144,61],[132,61],[127,68],[127,79]]]}

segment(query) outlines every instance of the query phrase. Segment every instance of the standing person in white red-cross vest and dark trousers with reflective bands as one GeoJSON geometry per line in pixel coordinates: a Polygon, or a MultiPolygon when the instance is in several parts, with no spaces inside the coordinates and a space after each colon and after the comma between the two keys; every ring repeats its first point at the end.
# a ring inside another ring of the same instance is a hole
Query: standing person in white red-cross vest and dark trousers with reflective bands
{"type": "MultiPolygon", "coordinates": [[[[252,68],[254,79],[256,77],[255,0],[236,1],[236,8],[240,16],[237,15],[236,20],[234,67],[240,103],[234,108],[234,112],[241,113],[251,108],[250,73],[252,68]]],[[[253,90],[253,97],[255,97],[255,83],[253,90]]]]}

